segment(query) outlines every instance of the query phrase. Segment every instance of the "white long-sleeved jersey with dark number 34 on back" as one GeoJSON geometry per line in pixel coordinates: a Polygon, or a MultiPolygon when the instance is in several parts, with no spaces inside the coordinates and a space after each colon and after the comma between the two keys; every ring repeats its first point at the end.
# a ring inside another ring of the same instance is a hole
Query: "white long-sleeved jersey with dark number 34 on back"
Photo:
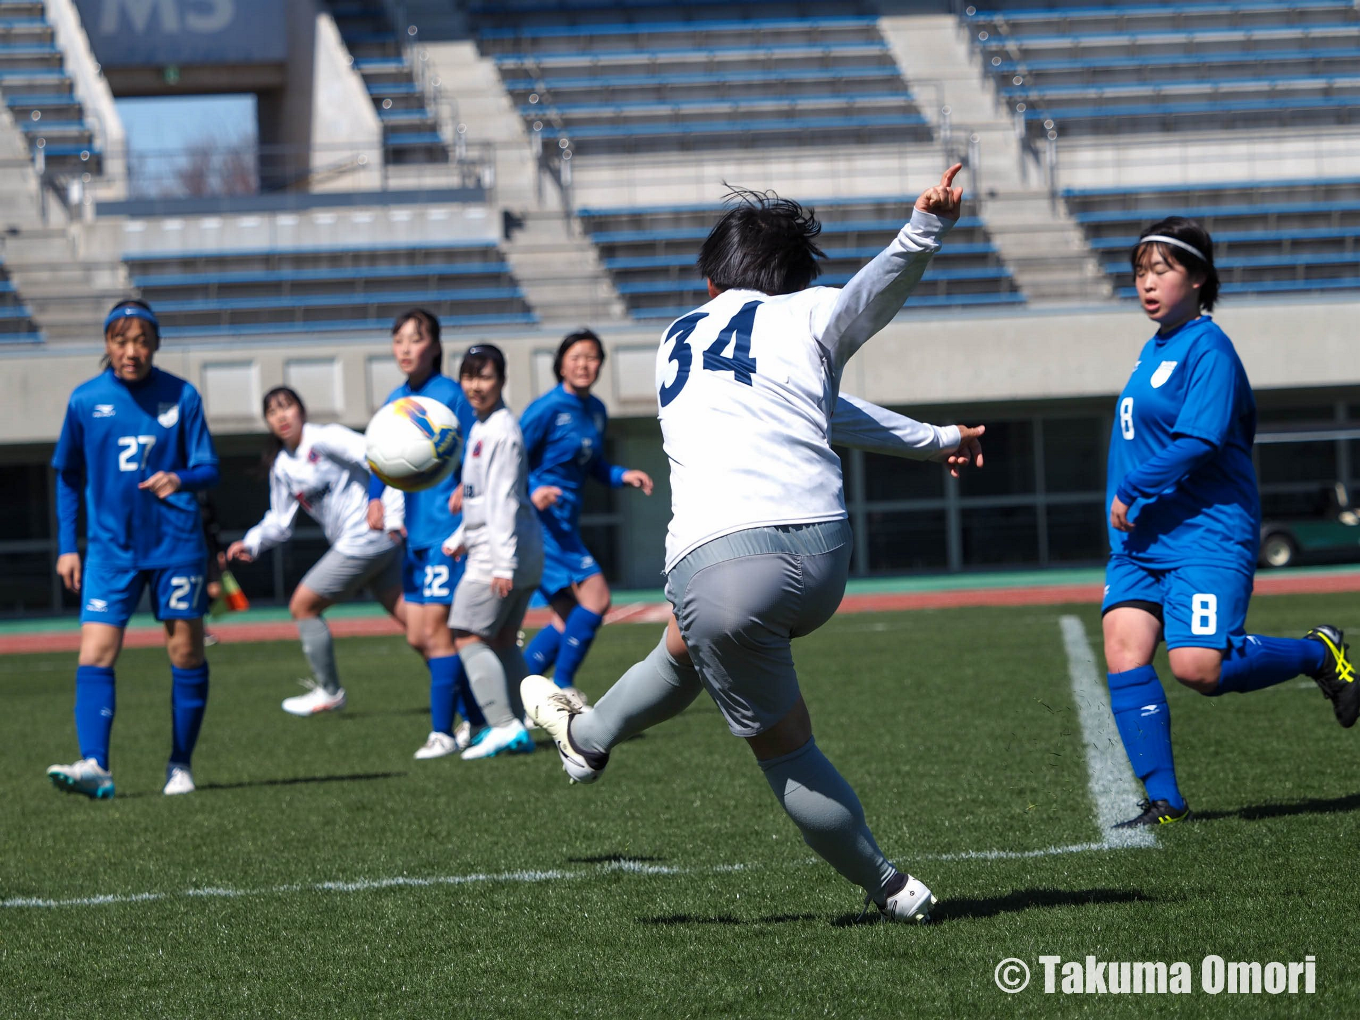
{"type": "Polygon", "coordinates": [[[846,517],[831,449],[840,373],[902,309],[951,226],[913,211],[843,290],[729,290],[670,324],[657,352],[670,461],[666,571],[724,534],[846,517]]]}

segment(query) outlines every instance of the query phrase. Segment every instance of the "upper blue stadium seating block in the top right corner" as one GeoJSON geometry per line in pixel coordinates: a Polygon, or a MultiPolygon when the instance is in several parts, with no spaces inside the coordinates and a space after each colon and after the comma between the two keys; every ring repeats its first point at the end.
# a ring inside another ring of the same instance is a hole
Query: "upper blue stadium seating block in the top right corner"
{"type": "Polygon", "coordinates": [[[1352,124],[1350,0],[967,8],[997,94],[1031,135],[1352,124]]]}

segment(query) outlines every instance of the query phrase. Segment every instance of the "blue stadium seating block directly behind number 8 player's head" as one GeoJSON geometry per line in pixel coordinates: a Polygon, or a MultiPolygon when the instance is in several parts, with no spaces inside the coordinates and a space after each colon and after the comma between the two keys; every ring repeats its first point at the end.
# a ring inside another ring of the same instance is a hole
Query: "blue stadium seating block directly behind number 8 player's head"
{"type": "Polygon", "coordinates": [[[1133,298],[1127,253],[1164,216],[1190,216],[1213,235],[1224,294],[1360,290],[1360,178],[1168,185],[1064,192],[1092,250],[1133,298]]]}

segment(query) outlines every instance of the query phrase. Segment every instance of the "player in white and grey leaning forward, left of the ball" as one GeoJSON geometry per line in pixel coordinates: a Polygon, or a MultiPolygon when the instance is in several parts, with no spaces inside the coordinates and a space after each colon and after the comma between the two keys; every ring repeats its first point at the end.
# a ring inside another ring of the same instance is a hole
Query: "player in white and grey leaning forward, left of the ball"
{"type": "Polygon", "coordinates": [[[288,612],[298,623],[302,654],[313,680],[306,694],[283,700],[291,715],[336,711],[345,704],[336,672],[335,645],[322,613],[363,589],[404,623],[401,600],[401,494],[386,490],[388,532],[369,528],[369,465],[359,432],[341,424],[307,422],[302,397],[288,386],[264,394],[264,420],[277,443],[269,466],[269,510],[231,543],[227,559],[250,563],[292,537],[298,510],[321,525],[330,548],[298,582],[288,612]]]}

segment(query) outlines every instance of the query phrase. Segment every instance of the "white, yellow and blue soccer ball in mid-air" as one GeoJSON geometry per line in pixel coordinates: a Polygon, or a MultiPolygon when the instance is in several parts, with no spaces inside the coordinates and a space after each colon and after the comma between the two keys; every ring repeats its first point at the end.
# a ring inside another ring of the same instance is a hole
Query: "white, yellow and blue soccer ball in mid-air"
{"type": "Polygon", "coordinates": [[[370,471],[405,492],[438,483],[462,449],[457,416],[430,397],[398,397],[378,408],[363,438],[370,471]]]}

